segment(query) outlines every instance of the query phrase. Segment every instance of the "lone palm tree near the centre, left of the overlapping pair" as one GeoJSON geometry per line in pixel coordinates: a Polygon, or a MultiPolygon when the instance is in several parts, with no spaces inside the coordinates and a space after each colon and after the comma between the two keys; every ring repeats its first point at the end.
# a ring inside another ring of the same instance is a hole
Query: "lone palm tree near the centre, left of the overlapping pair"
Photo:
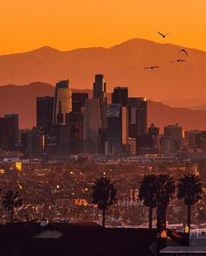
{"type": "Polygon", "coordinates": [[[114,183],[107,177],[96,179],[93,185],[93,204],[97,204],[102,211],[102,225],[105,227],[106,210],[116,203],[116,189],[114,183]]]}

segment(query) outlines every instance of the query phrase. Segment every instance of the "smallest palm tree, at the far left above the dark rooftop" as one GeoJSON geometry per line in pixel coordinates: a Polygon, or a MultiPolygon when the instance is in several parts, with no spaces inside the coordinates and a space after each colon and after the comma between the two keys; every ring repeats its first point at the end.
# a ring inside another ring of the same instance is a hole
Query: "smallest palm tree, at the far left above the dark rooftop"
{"type": "Polygon", "coordinates": [[[10,223],[13,223],[15,208],[21,207],[22,204],[22,195],[17,191],[9,190],[3,195],[3,206],[7,211],[10,212],[10,223]]]}

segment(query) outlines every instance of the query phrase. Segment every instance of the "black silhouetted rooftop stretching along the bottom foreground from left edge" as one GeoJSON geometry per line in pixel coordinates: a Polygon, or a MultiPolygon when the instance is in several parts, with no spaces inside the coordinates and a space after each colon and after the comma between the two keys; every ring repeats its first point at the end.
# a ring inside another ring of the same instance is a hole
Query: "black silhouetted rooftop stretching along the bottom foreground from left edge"
{"type": "Polygon", "coordinates": [[[148,256],[157,251],[156,239],[156,230],[148,229],[16,223],[0,225],[0,255],[148,256]]]}

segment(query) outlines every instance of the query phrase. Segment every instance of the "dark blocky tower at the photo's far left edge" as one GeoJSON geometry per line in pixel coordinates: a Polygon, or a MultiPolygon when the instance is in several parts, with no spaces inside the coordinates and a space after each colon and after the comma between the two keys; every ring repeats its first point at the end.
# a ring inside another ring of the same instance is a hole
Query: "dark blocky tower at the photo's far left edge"
{"type": "Polygon", "coordinates": [[[14,150],[16,142],[16,119],[0,117],[0,149],[14,150]]]}

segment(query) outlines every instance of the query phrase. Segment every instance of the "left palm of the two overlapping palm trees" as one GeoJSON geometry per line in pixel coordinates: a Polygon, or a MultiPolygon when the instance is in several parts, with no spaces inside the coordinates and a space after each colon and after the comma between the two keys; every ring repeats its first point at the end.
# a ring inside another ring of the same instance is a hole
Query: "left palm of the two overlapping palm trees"
{"type": "Polygon", "coordinates": [[[143,177],[140,183],[139,198],[145,206],[149,208],[148,213],[148,227],[152,229],[153,223],[153,209],[156,207],[156,176],[154,174],[148,174],[143,177]]]}

